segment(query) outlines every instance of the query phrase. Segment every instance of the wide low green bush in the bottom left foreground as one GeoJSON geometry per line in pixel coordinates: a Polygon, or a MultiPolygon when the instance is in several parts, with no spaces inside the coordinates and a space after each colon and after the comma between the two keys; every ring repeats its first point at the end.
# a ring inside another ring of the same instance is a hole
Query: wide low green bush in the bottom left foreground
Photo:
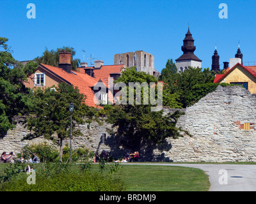
{"type": "MultiPolygon", "coordinates": [[[[13,165],[13,164],[12,164],[13,165]]],[[[35,185],[27,184],[28,175],[20,172],[15,179],[3,182],[0,191],[122,191],[120,177],[94,171],[74,171],[71,164],[47,163],[36,168],[35,185]]]]}

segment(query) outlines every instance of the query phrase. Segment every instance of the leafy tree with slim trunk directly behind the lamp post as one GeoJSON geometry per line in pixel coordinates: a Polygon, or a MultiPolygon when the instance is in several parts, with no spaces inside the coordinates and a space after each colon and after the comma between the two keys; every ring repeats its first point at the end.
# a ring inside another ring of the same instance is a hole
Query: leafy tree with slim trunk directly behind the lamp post
{"type": "MultiPolygon", "coordinates": [[[[84,122],[83,117],[93,119],[96,111],[85,105],[86,96],[79,93],[77,87],[61,83],[58,87],[47,89],[35,89],[33,91],[34,105],[31,108],[31,117],[26,120],[26,126],[31,133],[24,139],[33,139],[44,136],[56,141],[54,135],[59,138],[60,161],[63,150],[63,140],[70,137],[70,112],[68,105],[74,103],[72,114],[72,126],[84,122]],[[54,91],[55,89],[55,91],[54,91]]],[[[81,131],[72,128],[72,135],[81,135],[81,131]]]]}

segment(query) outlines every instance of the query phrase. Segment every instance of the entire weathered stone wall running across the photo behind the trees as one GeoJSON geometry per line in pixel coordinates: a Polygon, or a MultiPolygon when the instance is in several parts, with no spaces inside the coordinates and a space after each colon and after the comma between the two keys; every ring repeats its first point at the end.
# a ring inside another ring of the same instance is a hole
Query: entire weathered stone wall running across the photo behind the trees
{"type": "MultiPolygon", "coordinates": [[[[164,114],[174,111],[164,108],[164,114]]],[[[141,152],[143,161],[256,161],[256,95],[240,86],[219,86],[195,105],[180,111],[186,114],[180,117],[177,126],[192,136],[168,138],[161,147],[141,152]]],[[[29,131],[22,124],[24,117],[15,120],[16,128],[1,136],[0,151],[18,153],[26,144],[45,141],[44,138],[21,141],[29,131]]],[[[92,122],[90,128],[87,124],[77,128],[83,136],[73,138],[74,149],[86,147],[99,152],[104,149],[115,157],[124,156],[125,150],[119,147],[118,142],[111,140],[112,137],[106,131],[106,128],[111,128],[111,124],[92,122]],[[106,133],[106,143],[102,140],[102,133],[106,133]]]]}

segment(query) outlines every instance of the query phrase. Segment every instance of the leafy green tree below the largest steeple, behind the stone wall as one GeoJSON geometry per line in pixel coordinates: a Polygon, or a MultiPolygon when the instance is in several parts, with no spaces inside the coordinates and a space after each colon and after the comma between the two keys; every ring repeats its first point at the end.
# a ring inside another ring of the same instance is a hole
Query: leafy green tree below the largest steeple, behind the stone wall
{"type": "MultiPolygon", "coordinates": [[[[164,68],[161,73],[162,75],[159,80],[163,80],[164,82],[165,93],[163,101],[172,101],[172,97],[174,96],[178,104],[183,108],[193,105],[200,97],[205,96],[208,93],[207,91],[211,92],[213,91],[212,88],[216,87],[216,85],[209,85],[209,83],[212,84],[214,80],[214,72],[210,71],[209,68],[202,70],[202,68],[189,67],[184,72],[177,73],[177,68],[172,59],[168,59],[166,68],[164,68]],[[193,88],[196,85],[204,84],[208,84],[205,85],[205,87],[209,89],[205,89],[202,94],[198,93],[199,87],[193,88]],[[170,98],[170,96],[172,97],[170,98]]],[[[172,103],[164,103],[164,105],[171,106],[172,103]]],[[[172,105],[171,107],[174,106],[172,105]]]]}

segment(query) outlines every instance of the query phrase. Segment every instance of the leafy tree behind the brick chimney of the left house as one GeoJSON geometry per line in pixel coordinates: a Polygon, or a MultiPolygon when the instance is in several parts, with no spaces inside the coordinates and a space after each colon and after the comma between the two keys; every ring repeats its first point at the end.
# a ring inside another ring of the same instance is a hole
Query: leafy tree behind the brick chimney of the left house
{"type": "Polygon", "coordinates": [[[66,52],[71,53],[71,69],[76,70],[79,67],[80,59],[74,59],[74,55],[76,55],[76,51],[72,47],[57,48],[56,50],[49,51],[45,48],[45,51],[41,57],[36,57],[35,61],[42,64],[47,64],[51,66],[58,67],[59,65],[59,55],[61,50],[65,50],[66,52]]]}

